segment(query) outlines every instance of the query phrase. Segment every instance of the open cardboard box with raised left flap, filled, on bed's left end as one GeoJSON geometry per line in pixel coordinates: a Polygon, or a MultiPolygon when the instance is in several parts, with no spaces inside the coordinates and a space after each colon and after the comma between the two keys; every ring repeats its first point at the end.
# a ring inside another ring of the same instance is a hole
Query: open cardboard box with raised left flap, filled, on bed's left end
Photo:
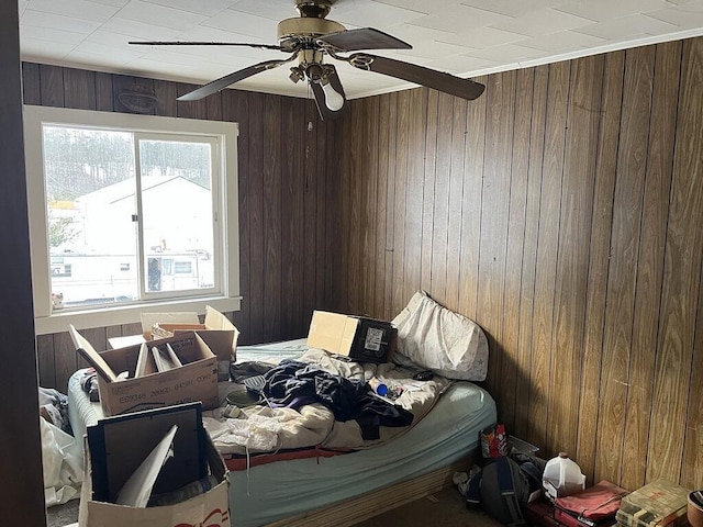
{"type": "Polygon", "coordinates": [[[205,410],[220,405],[217,358],[194,332],[153,343],[159,347],[168,343],[183,366],[138,378],[134,372],[141,344],[98,354],[72,326],[70,334],[76,348],[82,349],[81,355],[98,370],[100,405],[107,416],[196,401],[201,401],[205,410]],[[125,371],[127,379],[116,378],[125,371]]]}

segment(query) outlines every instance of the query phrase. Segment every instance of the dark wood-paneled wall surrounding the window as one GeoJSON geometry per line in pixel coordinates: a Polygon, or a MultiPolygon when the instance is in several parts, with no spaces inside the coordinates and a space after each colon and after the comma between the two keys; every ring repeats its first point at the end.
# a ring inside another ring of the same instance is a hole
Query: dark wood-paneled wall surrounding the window
{"type": "MultiPolygon", "coordinates": [[[[322,122],[309,100],[225,90],[198,102],[177,102],[192,86],[56,66],[23,65],[26,104],[105,112],[130,111],[119,94],[133,85],[154,89],[157,115],[237,122],[242,310],[227,313],[241,344],[306,335],[314,309],[330,304],[332,269],[325,255],[338,172],[334,122],[322,122]]],[[[96,349],[113,336],[141,333],[138,324],[81,332],[96,349]]],[[[68,333],[37,337],[40,385],[65,392],[86,366],[68,333]]]]}

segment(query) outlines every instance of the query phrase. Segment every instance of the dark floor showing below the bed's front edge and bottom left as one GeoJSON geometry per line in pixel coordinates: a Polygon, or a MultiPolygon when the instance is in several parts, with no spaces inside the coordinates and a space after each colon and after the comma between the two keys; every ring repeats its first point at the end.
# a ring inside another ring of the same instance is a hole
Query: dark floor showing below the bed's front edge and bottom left
{"type": "MultiPolygon", "coordinates": [[[[65,527],[78,522],[78,500],[49,507],[47,527],[65,527]]],[[[357,527],[500,527],[480,511],[469,511],[456,487],[445,489],[386,514],[357,524],[357,527]]]]}

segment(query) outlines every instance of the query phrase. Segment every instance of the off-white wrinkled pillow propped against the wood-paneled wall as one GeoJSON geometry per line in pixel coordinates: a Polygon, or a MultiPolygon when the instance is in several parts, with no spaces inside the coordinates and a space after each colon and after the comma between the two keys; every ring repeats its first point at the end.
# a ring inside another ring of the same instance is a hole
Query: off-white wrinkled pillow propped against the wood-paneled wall
{"type": "Polygon", "coordinates": [[[483,381],[488,339],[473,321],[417,291],[393,318],[398,328],[393,361],[416,365],[448,379],[483,381]]]}

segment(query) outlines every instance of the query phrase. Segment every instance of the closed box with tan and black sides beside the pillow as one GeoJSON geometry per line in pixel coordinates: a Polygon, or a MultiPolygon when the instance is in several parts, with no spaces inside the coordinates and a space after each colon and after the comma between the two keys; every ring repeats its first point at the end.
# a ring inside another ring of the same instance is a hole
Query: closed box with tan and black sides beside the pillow
{"type": "Polygon", "coordinates": [[[314,311],[308,346],[346,355],[359,362],[390,362],[397,329],[390,322],[314,311]]]}

